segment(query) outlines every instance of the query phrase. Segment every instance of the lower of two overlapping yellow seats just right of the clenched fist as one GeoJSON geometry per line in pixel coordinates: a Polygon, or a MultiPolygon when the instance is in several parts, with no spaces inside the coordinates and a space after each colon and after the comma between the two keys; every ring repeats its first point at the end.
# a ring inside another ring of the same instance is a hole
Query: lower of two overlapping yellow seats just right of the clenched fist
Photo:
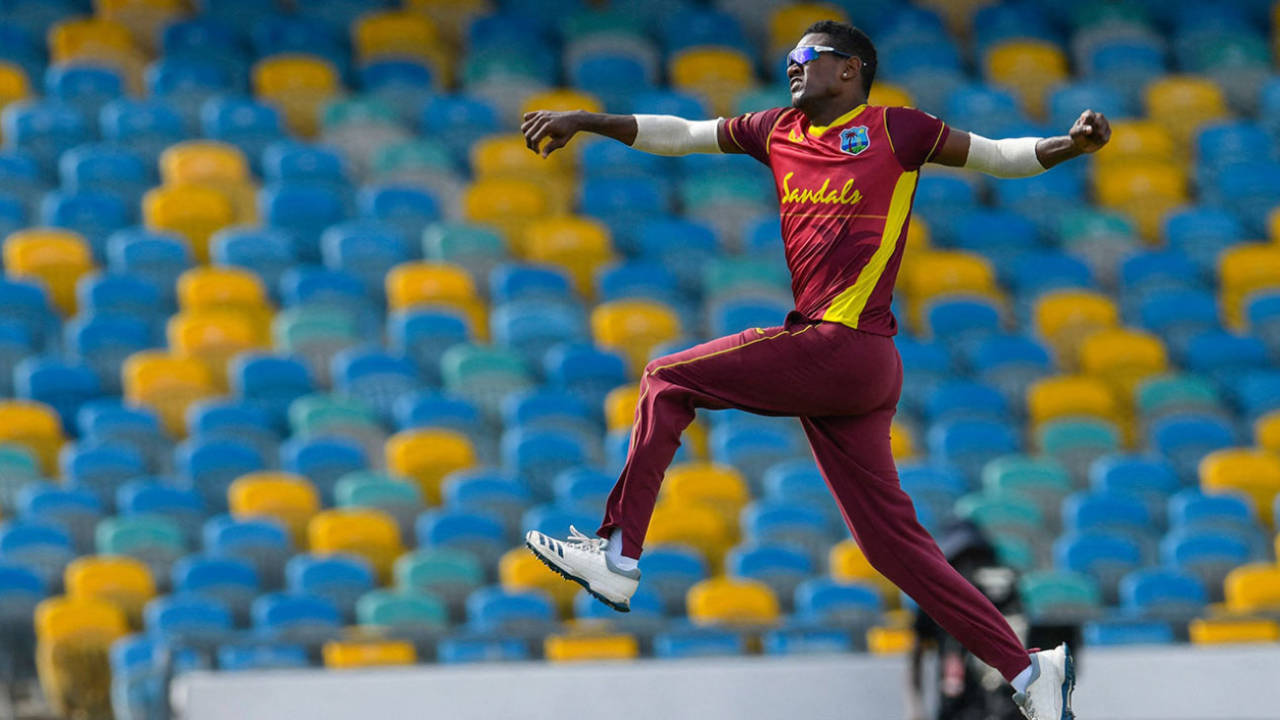
{"type": "Polygon", "coordinates": [[[1093,183],[1098,204],[1133,218],[1148,242],[1160,237],[1165,215],[1188,201],[1187,174],[1169,161],[1098,165],[1093,183]]]}

